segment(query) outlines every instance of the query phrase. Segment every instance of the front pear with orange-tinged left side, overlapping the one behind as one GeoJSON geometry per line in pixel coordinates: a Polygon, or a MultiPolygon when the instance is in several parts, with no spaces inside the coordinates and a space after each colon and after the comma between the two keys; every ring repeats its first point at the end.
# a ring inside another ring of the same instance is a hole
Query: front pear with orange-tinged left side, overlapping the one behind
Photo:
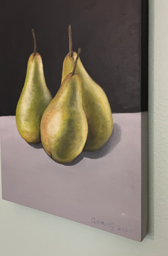
{"type": "MultiPolygon", "coordinates": [[[[79,51],[78,51],[79,56],[79,51]]],[[[68,74],[41,119],[41,141],[47,154],[58,163],[74,160],[87,139],[87,120],[82,108],[81,80],[68,74]]]]}

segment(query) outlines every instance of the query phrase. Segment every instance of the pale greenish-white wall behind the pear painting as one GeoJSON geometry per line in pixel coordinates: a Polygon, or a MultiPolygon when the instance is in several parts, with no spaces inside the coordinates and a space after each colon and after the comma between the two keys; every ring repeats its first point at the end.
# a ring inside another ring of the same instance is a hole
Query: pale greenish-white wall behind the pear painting
{"type": "Polygon", "coordinates": [[[149,92],[150,225],[145,240],[131,241],[0,199],[1,256],[168,255],[167,0],[150,0],[149,92]]]}

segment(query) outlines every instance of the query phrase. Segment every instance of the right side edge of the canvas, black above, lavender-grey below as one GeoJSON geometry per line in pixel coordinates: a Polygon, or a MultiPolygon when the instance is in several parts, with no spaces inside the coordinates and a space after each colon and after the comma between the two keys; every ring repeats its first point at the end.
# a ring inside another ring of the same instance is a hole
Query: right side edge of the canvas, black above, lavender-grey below
{"type": "MultiPolygon", "coordinates": [[[[142,0],[142,71],[141,71],[141,97],[145,97],[148,104],[148,23],[149,23],[149,1],[142,0]]],[[[142,102],[143,111],[143,102],[142,102]]],[[[141,113],[141,160],[142,160],[142,184],[141,184],[141,241],[148,232],[148,112],[141,113]]]]}

